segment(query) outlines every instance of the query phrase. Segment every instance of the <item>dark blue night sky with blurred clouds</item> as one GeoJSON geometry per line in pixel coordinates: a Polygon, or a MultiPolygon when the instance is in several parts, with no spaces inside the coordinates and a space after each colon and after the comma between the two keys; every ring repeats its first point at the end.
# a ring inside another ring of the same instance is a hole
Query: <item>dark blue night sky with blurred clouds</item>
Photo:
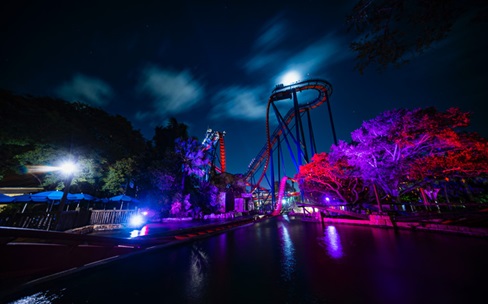
{"type": "MultiPolygon", "coordinates": [[[[231,173],[264,146],[268,98],[291,70],[332,84],[339,140],[385,110],[427,106],[472,112],[470,130],[488,137],[486,23],[457,24],[409,65],[360,75],[345,23],[356,1],[261,2],[2,1],[0,88],[100,107],[147,139],[170,117],[199,140],[225,131],[231,173]]],[[[328,151],[326,106],[313,112],[328,151]]]]}

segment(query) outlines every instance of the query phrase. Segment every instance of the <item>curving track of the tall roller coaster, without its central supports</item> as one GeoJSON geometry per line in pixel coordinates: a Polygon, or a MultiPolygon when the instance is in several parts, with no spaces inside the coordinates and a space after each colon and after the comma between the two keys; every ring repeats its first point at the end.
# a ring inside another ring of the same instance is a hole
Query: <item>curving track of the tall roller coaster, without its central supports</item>
{"type": "MultiPolygon", "coordinates": [[[[269,110],[271,106],[275,102],[280,100],[292,99],[292,98],[296,99],[297,92],[302,92],[306,90],[315,90],[318,92],[318,96],[309,102],[299,104],[298,107],[294,106],[287,112],[287,114],[283,118],[283,121],[285,122],[286,127],[288,127],[288,125],[294,120],[294,118],[296,118],[297,114],[299,115],[302,112],[317,108],[323,103],[328,102],[329,97],[332,94],[332,85],[329,82],[321,79],[311,79],[311,80],[301,81],[287,86],[278,85],[276,86],[271,96],[269,97],[268,104],[266,107],[267,141],[264,147],[258,153],[258,155],[251,161],[248,167],[248,171],[245,174],[246,181],[252,184],[251,192],[254,192],[256,188],[260,187],[259,185],[266,174],[266,170],[268,169],[268,165],[270,163],[270,158],[272,157],[273,147],[279,142],[279,137],[283,135],[283,128],[280,126],[277,127],[272,134],[270,133],[269,110]],[[263,169],[261,171],[261,175],[259,179],[257,180],[257,182],[252,183],[251,179],[253,179],[254,175],[258,172],[260,168],[263,169]]],[[[329,108],[329,115],[332,122],[330,108],[329,108]]],[[[296,125],[295,127],[297,128],[298,126],[296,125]]],[[[335,130],[333,129],[333,123],[332,123],[332,131],[334,134],[334,141],[337,142],[335,138],[335,130]]]]}

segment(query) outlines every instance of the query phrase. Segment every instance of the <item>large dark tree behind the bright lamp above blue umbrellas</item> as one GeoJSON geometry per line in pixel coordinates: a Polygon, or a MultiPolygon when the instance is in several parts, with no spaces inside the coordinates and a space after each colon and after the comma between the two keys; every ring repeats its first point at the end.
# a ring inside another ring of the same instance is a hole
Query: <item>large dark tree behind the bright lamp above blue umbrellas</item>
{"type": "MultiPolygon", "coordinates": [[[[127,119],[83,103],[0,91],[0,119],[0,176],[22,174],[32,166],[56,166],[71,157],[83,168],[73,186],[100,195],[108,166],[146,149],[141,133],[127,119]]],[[[35,174],[46,189],[63,187],[55,172],[35,174]]]]}

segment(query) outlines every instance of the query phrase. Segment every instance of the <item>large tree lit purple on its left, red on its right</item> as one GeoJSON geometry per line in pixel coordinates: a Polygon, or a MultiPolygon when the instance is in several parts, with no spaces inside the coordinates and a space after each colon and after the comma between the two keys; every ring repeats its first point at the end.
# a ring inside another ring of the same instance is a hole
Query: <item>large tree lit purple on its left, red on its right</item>
{"type": "Polygon", "coordinates": [[[352,132],[350,144],[336,148],[358,169],[358,177],[399,202],[403,193],[428,183],[426,177],[486,173],[486,142],[459,132],[468,125],[469,113],[457,108],[386,111],[352,132]],[[484,165],[476,167],[471,153],[484,165]]]}

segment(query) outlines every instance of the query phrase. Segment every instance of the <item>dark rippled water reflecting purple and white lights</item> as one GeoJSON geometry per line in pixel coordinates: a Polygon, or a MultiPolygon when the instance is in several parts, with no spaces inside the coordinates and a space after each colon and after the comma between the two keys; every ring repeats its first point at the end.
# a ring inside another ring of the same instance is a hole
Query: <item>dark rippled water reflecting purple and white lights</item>
{"type": "Polygon", "coordinates": [[[11,303],[485,303],[488,240],[278,217],[39,285],[11,303]]]}

